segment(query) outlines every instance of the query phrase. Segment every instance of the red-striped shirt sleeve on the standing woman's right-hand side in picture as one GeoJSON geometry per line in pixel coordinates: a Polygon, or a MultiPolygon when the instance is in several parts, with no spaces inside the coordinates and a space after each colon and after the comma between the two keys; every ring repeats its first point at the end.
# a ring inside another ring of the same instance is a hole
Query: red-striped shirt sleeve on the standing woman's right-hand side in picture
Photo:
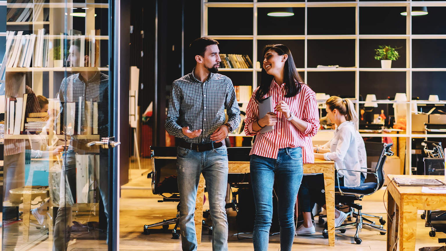
{"type": "Polygon", "coordinates": [[[305,136],[313,137],[319,130],[318,104],[314,92],[311,90],[307,90],[307,92],[302,120],[308,123],[304,132],[305,136]]]}

